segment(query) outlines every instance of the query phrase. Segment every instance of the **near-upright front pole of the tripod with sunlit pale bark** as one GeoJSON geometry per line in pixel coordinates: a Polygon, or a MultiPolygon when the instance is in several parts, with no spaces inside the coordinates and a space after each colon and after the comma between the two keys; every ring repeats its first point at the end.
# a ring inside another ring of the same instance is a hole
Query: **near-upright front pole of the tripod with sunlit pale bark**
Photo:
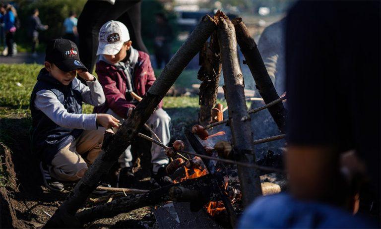
{"type": "MultiPolygon", "coordinates": [[[[245,85],[238,60],[236,33],[232,22],[222,15],[218,18],[218,42],[220,45],[224,92],[229,107],[229,126],[232,130],[234,158],[239,162],[255,164],[253,134],[245,100],[245,85]]],[[[238,165],[238,176],[243,203],[248,206],[262,195],[259,170],[238,165]]]]}

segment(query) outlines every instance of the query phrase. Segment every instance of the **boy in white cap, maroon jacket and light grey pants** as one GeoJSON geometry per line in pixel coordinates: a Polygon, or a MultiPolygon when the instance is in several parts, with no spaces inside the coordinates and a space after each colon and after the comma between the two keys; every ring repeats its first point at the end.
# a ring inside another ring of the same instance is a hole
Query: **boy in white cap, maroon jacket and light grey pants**
{"type": "MultiPolygon", "coordinates": [[[[112,114],[121,122],[127,118],[128,112],[138,103],[131,96],[131,92],[143,96],[156,80],[149,55],[132,48],[127,27],[119,21],[109,21],[102,26],[99,32],[99,46],[97,55],[100,55],[96,64],[99,82],[102,84],[106,96],[106,104],[94,109],[95,113],[112,114]]],[[[153,129],[163,144],[168,144],[171,138],[169,122],[171,118],[161,108],[148,119],[147,124],[153,129]]],[[[164,150],[155,144],[151,146],[152,178],[155,186],[172,183],[164,167],[168,164],[168,157],[164,150]]],[[[131,146],[119,158],[121,172],[120,185],[131,185],[133,173],[131,170],[131,146]],[[127,178],[126,178],[127,177],[127,178]]]]}

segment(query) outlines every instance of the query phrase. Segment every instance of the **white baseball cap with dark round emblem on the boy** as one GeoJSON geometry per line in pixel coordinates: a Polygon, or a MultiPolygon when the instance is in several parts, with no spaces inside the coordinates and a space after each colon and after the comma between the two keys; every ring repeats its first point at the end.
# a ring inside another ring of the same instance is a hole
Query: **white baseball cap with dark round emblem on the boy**
{"type": "Polygon", "coordinates": [[[129,41],[129,33],[125,24],[120,21],[108,21],[99,30],[98,55],[116,55],[123,44],[129,41]]]}

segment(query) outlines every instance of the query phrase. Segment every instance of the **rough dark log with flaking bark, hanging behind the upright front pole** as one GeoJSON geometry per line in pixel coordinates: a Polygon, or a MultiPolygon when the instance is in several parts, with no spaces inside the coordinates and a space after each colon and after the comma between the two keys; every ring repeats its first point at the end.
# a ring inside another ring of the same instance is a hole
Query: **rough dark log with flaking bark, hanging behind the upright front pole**
{"type": "Polygon", "coordinates": [[[216,105],[218,82],[221,75],[221,56],[216,31],[213,32],[210,42],[205,42],[199,57],[200,69],[197,78],[202,81],[199,91],[198,104],[200,111],[198,121],[201,124],[212,122],[212,109],[216,105]]]}

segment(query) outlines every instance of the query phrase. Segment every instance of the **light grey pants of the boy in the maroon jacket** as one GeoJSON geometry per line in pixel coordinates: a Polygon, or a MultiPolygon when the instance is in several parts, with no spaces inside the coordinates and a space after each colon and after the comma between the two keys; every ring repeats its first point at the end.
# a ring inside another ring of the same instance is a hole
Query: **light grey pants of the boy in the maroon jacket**
{"type": "MultiPolygon", "coordinates": [[[[111,109],[107,111],[107,114],[111,114],[114,117],[118,118],[120,123],[123,123],[125,120],[111,109]]],[[[156,133],[156,135],[160,138],[161,142],[164,145],[167,145],[171,140],[171,134],[169,131],[169,123],[171,121],[171,117],[163,110],[157,109],[147,120],[147,125],[156,133]]],[[[132,166],[132,154],[131,154],[131,145],[127,147],[125,152],[119,157],[118,160],[120,166],[122,168],[131,167],[132,166]]],[[[165,155],[164,149],[156,144],[152,143],[151,146],[151,163],[152,163],[152,171],[157,172],[160,167],[164,167],[168,164],[168,157],[165,155]]]]}

